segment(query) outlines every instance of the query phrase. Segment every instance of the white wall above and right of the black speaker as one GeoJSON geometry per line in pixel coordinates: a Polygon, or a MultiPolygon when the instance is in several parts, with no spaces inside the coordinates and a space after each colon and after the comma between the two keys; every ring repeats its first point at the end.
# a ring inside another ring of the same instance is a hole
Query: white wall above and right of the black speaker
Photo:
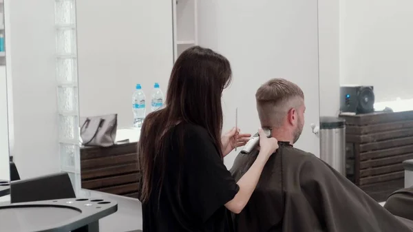
{"type": "Polygon", "coordinates": [[[413,98],[413,1],[340,2],[341,84],[374,85],[376,102],[413,98]]]}

